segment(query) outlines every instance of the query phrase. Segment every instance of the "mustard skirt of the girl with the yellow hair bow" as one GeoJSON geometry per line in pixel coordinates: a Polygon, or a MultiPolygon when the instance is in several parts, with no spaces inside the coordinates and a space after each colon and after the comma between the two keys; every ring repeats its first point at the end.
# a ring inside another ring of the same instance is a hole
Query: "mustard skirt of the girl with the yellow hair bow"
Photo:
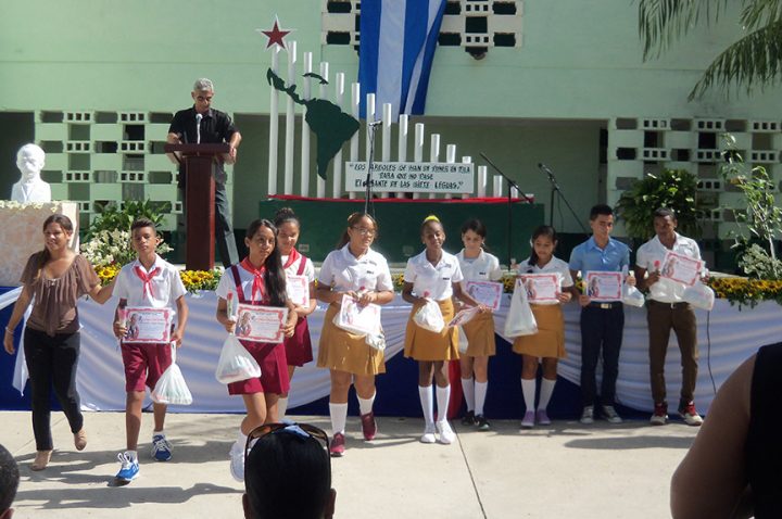
{"type": "MultiPolygon", "coordinates": [[[[454,316],[451,298],[438,301],[443,320],[447,325],[454,316]]],[[[424,303],[413,305],[407,329],[405,330],[405,357],[416,360],[455,360],[458,358],[458,330],[456,327],[444,328],[439,333],[425,330],[413,320],[413,316],[424,303]]]]}

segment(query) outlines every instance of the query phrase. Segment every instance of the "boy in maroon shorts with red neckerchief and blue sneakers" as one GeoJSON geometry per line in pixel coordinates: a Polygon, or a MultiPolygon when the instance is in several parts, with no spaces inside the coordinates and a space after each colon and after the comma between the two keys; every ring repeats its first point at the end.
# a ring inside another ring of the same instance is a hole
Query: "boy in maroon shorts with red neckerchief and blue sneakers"
{"type": "MultiPolygon", "coordinates": [[[[125,366],[125,430],[127,451],[119,453],[122,464],[116,478],[130,482],[138,476],[138,436],[141,429],[141,407],[146,395],[144,385],[154,389],[161,375],[172,364],[171,343],[181,345],[188,307],[185,302],[185,286],[179,271],[168,262],[161,258],[155,249],[160,238],[154,224],[147,218],[139,218],[130,226],[130,242],[138,258],[125,265],[117,274],[114,294],[119,298],[114,316],[114,334],[121,340],[123,365],[125,366]],[[176,311],[174,305],[176,304],[176,311]],[[177,317],[177,327],[165,341],[154,343],[126,343],[126,314],[128,307],[168,308],[171,320],[177,317]]],[[[165,404],[153,404],[154,431],[152,433],[152,456],[159,461],[167,461],[172,457],[171,444],[163,432],[165,422],[165,404]]]]}

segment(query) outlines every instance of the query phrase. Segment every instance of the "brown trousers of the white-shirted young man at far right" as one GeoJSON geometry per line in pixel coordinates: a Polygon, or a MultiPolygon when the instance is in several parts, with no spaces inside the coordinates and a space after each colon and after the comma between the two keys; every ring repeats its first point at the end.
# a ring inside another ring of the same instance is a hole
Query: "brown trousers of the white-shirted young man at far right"
{"type": "Polygon", "coordinates": [[[686,303],[647,301],[646,322],[649,330],[649,377],[655,404],[666,401],[665,357],[671,329],[677,336],[682,363],[682,388],[679,408],[693,401],[697,381],[697,324],[695,313],[686,303]]]}

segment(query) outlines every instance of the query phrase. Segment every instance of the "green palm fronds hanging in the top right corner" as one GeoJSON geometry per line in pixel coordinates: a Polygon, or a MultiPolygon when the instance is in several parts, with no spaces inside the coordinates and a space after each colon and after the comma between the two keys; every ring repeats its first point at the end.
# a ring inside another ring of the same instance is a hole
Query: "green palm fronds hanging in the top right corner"
{"type": "MultiPolygon", "coordinates": [[[[739,3],[729,0],[639,0],[639,34],[644,61],[657,58],[697,25],[710,26],[739,3]]],[[[782,78],[782,0],[741,0],[742,37],[706,68],[689,99],[712,87],[773,85],[782,78]]]]}

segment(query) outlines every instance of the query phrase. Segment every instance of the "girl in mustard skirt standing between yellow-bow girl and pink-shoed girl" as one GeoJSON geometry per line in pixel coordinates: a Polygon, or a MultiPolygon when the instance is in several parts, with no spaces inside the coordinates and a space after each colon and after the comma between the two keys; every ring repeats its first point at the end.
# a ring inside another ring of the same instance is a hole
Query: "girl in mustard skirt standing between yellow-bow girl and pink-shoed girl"
{"type": "MultiPolygon", "coordinates": [[[[462,226],[464,249],[456,254],[462,267],[465,283],[469,281],[497,281],[502,278],[500,260],[483,250],[487,228],[479,219],[471,219],[462,226]]],[[[494,355],[494,316],[487,312],[479,314],[462,327],[459,358],[462,368],[462,390],[464,391],[467,414],[462,419],[465,426],[478,426],[489,430],[490,425],[483,415],[487,389],[489,387],[489,357],[494,355]],[[475,374],[475,379],[472,378],[475,374]]]]}

